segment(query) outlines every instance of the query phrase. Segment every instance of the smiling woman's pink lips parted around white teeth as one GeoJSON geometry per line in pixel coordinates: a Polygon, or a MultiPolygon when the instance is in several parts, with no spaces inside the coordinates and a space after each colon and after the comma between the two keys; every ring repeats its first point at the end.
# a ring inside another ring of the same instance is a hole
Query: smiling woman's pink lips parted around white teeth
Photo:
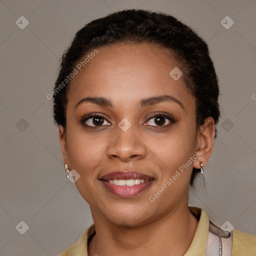
{"type": "Polygon", "coordinates": [[[103,183],[104,187],[114,195],[129,198],[145,191],[152,184],[154,178],[137,171],[115,171],[101,176],[99,180],[103,183]],[[109,183],[109,180],[114,179],[143,179],[144,182],[131,186],[109,183]]]}

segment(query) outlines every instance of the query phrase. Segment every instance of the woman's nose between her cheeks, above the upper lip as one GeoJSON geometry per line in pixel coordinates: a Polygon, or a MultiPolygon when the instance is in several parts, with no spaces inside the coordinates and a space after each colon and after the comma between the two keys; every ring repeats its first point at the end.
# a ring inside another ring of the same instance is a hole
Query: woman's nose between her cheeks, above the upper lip
{"type": "Polygon", "coordinates": [[[129,162],[131,160],[142,159],[146,155],[146,146],[136,134],[135,129],[131,127],[123,131],[118,126],[117,133],[110,140],[107,147],[107,156],[110,159],[129,162]]]}

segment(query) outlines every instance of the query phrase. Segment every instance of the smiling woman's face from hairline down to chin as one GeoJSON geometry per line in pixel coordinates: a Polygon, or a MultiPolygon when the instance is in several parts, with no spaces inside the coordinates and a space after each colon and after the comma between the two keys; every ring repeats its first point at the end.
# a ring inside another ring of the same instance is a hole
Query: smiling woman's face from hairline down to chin
{"type": "Polygon", "coordinates": [[[93,217],[139,225],[187,206],[201,140],[195,99],[182,76],[170,76],[175,67],[165,48],[118,43],[98,48],[72,79],[60,142],[93,217]]]}

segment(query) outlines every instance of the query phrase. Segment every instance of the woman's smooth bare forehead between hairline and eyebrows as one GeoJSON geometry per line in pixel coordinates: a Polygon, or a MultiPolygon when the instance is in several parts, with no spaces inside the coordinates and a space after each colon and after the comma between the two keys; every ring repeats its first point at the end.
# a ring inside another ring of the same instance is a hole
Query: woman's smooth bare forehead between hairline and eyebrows
{"type": "Polygon", "coordinates": [[[182,67],[167,48],[149,43],[117,43],[97,50],[73,77],[68,93],[70,103],[97,95],[130,104],[141,97],[163,93],[181,101],[187,97],[191,100],[183,77],[174,80],[169,74],[173,68],[182,71],[182,67]]]}

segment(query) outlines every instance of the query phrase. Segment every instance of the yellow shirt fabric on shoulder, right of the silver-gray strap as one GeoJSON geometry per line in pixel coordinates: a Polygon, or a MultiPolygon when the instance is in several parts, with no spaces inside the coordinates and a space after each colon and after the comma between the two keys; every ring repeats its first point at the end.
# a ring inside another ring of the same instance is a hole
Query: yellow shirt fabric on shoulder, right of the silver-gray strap
{"type": "Polygon", "coordinates": [[[256,255],[256,236],[233,229],[232,255],[256,255]]]}

